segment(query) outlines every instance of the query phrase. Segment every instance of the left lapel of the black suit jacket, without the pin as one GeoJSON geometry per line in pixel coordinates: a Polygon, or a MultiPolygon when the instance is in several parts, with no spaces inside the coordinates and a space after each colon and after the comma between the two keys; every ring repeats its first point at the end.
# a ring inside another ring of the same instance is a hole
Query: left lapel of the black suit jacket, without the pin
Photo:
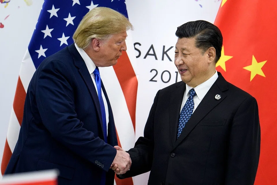
{"type": "Polygon", "coordinates": [[[174,146],[177,138],[177,127],[179,122],[179,115],[182,105],[182,100],[186,90],[186,84],[184,82],[179,82],[176,89],[173,89],[173,93],[170,98],[169,106],[169,124],[170,124],[170,134],[172,139],[172,146],[174,146]]]}

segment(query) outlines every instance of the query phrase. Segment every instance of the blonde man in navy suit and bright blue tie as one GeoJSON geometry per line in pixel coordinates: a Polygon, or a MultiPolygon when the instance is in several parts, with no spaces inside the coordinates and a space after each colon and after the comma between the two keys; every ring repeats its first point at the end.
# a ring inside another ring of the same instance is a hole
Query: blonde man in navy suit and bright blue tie
{"type": "Polygon", "coordinates": [[[19,138],[5,174],[58,169],[59,185],[114,184],[112,164],[126,172],[111,105],[98,67],[126,51],[128,19],[110,8],[89,11],[75,43],[47,57],[29,84],[19,138]]]}

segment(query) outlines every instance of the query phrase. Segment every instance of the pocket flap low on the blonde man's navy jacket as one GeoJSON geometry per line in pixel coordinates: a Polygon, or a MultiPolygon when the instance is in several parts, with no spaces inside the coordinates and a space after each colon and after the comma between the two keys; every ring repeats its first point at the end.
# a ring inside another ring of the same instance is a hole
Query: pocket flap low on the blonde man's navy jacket
{"type": "Polygon", "coordinates": [[[39,159],[37,164],[37,170],[48,170],[48,169],[58,169],[59,177],[63,177],[65,179],[72,180],[73,175],[75,173],[75,169],[65,166],[63,164],[57,164],[54,162],[46,161],[39,159]]]}

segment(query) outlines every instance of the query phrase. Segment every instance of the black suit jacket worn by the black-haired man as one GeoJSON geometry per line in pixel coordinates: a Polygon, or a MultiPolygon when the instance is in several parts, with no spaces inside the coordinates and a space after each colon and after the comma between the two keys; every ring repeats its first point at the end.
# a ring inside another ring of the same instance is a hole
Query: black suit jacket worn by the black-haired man
{"type": "Polygon", "coordinates": [[[150,185],[254,183],[260,153],[257,101],[218,75],[177,140],[186,84],[158,91],[144,137],[128,151],[131,169],[120,178],[151,170],[150,185]]]}

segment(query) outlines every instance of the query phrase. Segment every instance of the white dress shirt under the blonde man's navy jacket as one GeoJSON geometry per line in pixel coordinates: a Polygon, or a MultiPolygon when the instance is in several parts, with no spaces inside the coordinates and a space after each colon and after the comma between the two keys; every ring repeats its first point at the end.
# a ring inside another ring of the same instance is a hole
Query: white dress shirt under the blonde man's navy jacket
{"type": "MultiPolygon", "coordinates": [[[[91,76],[91,79],[92,79],[92,82],[94,84],[94,87],[96,89],[96,92],[97,92],[97,95],[98,95],[98,91],[97,91],[97,86],[96,86],[96,82],[95,82],[95,77],[94,77],[94,74],[93,74],[93,71],[96,69],[96,66],[94,64],[94,62],[91,60],[91,58],[89,58],[89,56],[87,55],[87,53],[79,48],[76,43],[74,43],[77,51],[80,53],[81,57],[83,58],[83,60],[85,61],[86,63],[86,66],[87,66],[87,69],[89,70],[89,74],[91,76]]],[[[101,75],[100,75],[101,76],[101,75]]],[[[106,97],[103,93],[103,90],[101,88],[101,93],[102,93],[102,97],[103,97],[103,101],[104,101],[104,106],[105,106],[105,112],[106,112],[106,124],[107,124],[107,134],[108,134],[108,123],[109,123],[109,111],[108,111],[108,103],[107,103],[107,100],[106,100],[106,97]]]]}

